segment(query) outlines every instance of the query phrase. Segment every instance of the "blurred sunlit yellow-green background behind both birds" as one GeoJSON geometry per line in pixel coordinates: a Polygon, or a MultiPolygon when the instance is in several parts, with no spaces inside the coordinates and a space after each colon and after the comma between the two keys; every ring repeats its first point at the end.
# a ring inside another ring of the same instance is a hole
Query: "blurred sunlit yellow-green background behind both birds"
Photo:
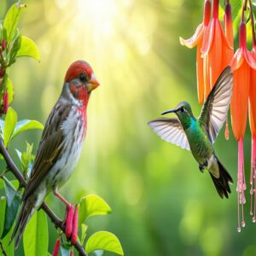
{"type": "MultiPolygon", "coordinates": [[[[10,0],[1,0],[2,19],[10,0]]],[[[113,213],[90,218],[89,235],[108,230],[119,237],[125,255],[255,255],[256,227],[245,207],[246,228],[237,233],[236,184],[221,200],[208,173],[199,172],[189,151],[160,140],[147,125],[160,113],[197,102],[195,49],[181,46],[202,20],[202,0],[26,0],[21,32],[32,38],[41,62],[22,58],[10,70],[15,85],[13,108],[19,119],[43,124],[61,93],[70,63],[90,62],[101,86],[93,91],[88,132],[73,177],[61,188],[78,203],[95,193],[113,213]]],[[[38,147],[40,131],[15,138],[38,147]]],[[[236,142],[221,131],[215,143],[220,160],[236,181],[236,142]]],[[[18,161],[17,161],[18,162],[18,161]]],[[[245,137],[249,177],[250,134],[245,137]]],[[[249,184],[247,183],[247,186],[249,184]]],[[[63,204],[47,198],[61,217],[63,204]]],[[[49,252],[57,233],[49,221],[49,252]]],[[[16,255],[23,255],[20,246],[16,255]]],[[[107,253],[106,253],[107,255],[107,253]]]]}

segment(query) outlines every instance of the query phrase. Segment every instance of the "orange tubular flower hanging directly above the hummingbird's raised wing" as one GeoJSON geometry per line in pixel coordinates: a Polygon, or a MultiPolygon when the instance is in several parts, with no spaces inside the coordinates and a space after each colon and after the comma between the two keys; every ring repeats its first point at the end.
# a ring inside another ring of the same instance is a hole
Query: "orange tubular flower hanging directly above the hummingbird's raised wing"
{"type": "Polygon", "coordinates": [[[212,20],[207,26],[201,47],[201,55],[204,61],[205,99],[223,70],[224,52],[231,49],[233,48],[218,20],[218,0],[213,0],[212,20]]]}

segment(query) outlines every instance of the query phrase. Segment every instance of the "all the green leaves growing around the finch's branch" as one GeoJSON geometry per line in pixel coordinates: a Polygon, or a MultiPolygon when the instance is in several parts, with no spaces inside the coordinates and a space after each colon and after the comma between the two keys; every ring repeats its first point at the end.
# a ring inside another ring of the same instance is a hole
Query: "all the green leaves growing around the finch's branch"
{"type": "MultiPolygon", "coordinates": [[[[14,86],[9,78],[9,67],[11,67],[18,57],[28,56],[40,61],[38,46],[30,38],[23,36],[18,23],[20,16],[26,9],[26,4],[20,2],[13,4],[7,12],[3,24],[0,26],[0,116],[5,114],[4,119],[0,119],[0,139],[3,140],[4,147],[9,148],[12,140],[20,133],[28,130],[43,130],[42,125],[37,120],[22,119],[18,121],[15,109],[9,104],[14,99],[14,86]]],[[[33,144],[26,143],[26,151],[20,152],[15,149],[20,160],[23,176],[27,179],[32,170],[32,162],[35,155],[32,153],[33,144]]],[[[1,155],[1,160],[3,156],[1,155]]],[[[17,180],[9,181],[6,172],[9,166],[0,174],[0,189],[3,189],[4,196],[0,199],[0,241],[5,253],[14,255],[14,242],[9,245],[9,239],[14,230],[15,218],[20,206],[20,185],[17,180]]],[[[95,215],[105,215],[111,212],[108,203],[97,195],[88,195],[81,198],[79,203],[79,229],[81,230],[81,241],[84,244],[88,226],[83,222],[95,215]]],[[[62,233],[59,233],[61,236],[62,233]]],[[[76,237],[74,237],[76,238],[76,237]]],[[[47,255],[48,253],[48,225],[47,217],[43,210],[39,210],[32,215],[31,220],[26,225],[23,236],[24,252],[26,255],[47,255]]],[[[122,247],[116,236],[109,232],[97,232],[90,236],[85,242],[90,252],[95,249],[108,250],[113,253],[123,255],[122,247]]],[[[73,251],[73,245],[67,239],[61,239],[61,254],[69,255],[73,251]]],[[[0,249],[1,252],[1,249],[0,249]]]]}

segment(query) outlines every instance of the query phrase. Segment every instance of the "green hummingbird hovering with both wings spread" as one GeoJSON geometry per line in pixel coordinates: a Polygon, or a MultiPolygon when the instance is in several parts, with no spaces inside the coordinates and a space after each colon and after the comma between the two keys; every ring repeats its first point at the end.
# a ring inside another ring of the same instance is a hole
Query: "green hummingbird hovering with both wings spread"
{"type": "Polygon", "coordinates": [[[218,160],[212,144],[226,119],[232,94],[233,74],[226,67],[204,102],[198,119],[192,113],[189,102],[180,102],[176,108],[161,114],[176,113],[177,118],[155,119],[148,123],[153,131],[181,148],[191,150],[199,163],[201,172],[207,169],[212,181],[222,198],[229,198],[229,183],[233,183],[230,173],[218,160]]]}

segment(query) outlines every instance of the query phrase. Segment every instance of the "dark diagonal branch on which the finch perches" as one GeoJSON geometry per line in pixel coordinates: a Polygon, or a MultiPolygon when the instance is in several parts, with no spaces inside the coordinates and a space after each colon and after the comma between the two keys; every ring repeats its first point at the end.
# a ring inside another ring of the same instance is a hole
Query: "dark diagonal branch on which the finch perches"
{"type": "MultiPolygon", "coordinates": [[[[17,168],[17,166],[15,166],[15,163],[12,160],[12,158],[10,157],[9,152],[4,147],[2,138],[0,138],[0,153],[3,155],[3,158],[6,161],[6,164],[9,167],[10,172],[13,172],[13,174],[19,180],[20,185],[22,187],[26,187],[26,180],[23,177],[23,175],[21,174],[20,170],[17,168]]],[[[65,228],[66,228],[65,224],[63,224],[61,219],[55,215],[55,212],[50,210],[50,208],[48,207],[48,205],[45,202],[42,204],[41,208],[44,210],[44,212],[46,212],[46,214],[49,216],[51,221],[55,224],[55,227],[60,228],[65,233],[65,228]]],[[[85,251],[84,251],[84,247],[79,243],[79,241],[76,241],[76,243],[74,244],[74,247],[79,252],[79,255],[87,256],[87,253],[85,253],[85,251]]]]}

